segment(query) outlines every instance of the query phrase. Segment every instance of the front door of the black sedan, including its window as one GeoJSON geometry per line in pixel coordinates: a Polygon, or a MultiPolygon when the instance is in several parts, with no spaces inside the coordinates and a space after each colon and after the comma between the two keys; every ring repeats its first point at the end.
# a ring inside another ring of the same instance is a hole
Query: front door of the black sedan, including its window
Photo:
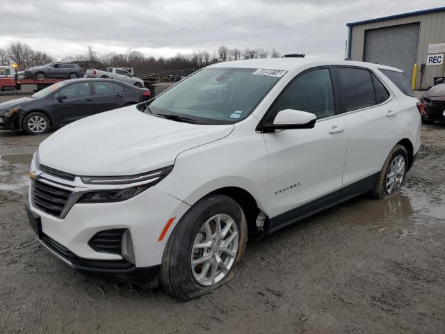
{"type": "Polygon", "coordinates": [[[92,115],[94,106],[90,82],[80,81],[64,86],[54,93],[50,112],[58,125],[65,125],[92,115]]]}

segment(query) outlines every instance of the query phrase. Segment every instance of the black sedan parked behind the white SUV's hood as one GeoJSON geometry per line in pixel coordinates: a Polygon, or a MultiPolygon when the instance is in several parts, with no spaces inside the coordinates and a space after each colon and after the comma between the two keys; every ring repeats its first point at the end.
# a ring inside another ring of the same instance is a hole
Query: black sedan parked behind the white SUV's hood
{"type": "Polygon", "coordinates": [[[50,127],[148,100],[150,91],[111,79],[60,81],[30,97],[0,103],[0,129],[44,134],[50,127]]]}

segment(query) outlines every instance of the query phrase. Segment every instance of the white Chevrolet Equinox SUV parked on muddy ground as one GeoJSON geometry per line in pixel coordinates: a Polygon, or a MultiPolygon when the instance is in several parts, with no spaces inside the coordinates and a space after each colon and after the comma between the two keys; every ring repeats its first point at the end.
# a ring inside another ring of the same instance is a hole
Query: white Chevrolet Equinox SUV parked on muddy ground
{"type": "Polygon", "coordinates": [[[234,277],[248,234],[398,191],[419,150],[416,102],[384,65],[211,65],[43,141],[29,221],[81,273],[197,298],[234,277]]]}

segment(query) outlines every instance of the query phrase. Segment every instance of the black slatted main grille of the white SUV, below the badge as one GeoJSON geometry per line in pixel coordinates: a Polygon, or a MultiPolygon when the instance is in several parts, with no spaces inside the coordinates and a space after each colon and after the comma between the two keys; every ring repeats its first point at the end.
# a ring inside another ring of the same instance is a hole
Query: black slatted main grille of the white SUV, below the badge
{"type": "Polygon", "coordinates": [[[33,205],[43,212],[56,217],[62,214],[70,195],[71,191],[51,186],[40,180],[35,180],[31,187],[33,205]]]}

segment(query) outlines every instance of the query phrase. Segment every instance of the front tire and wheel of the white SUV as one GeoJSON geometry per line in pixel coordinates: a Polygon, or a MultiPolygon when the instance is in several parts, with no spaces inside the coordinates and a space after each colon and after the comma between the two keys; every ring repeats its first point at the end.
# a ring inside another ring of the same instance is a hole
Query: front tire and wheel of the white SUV
{"type": "Polygon", "coordinates": [[[245,252],[247,224],[232,198],[208,196],[181,218],[165,246],[161,284],[181,301],[196,299],[234,278],[245,252]]]}

